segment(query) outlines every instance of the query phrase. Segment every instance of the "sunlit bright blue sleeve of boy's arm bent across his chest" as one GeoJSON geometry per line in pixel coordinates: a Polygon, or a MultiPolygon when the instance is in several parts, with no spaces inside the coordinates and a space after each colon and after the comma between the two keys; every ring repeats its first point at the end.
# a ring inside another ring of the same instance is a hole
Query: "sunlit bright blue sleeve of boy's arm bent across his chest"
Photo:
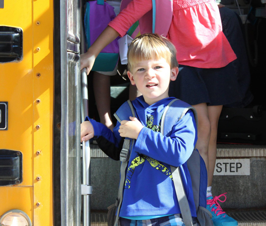
{"type": "Polygon", "coordinates": [[[135,151],[178,167],[191,156],[197,142],[197,127],[194,114],[189,110],[187,114],[172,128],[169,137],[162,136],[144,127],[136,140],[135,151]]]}

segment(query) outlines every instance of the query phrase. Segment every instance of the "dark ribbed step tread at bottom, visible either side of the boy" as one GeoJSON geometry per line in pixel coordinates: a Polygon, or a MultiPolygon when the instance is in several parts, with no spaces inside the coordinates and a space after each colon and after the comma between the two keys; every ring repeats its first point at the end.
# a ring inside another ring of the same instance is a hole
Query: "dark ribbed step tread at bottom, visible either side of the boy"
{"type": "MultiPolygon", "coordinates": [[[[260,211],[227,211],[227,214],[238,221],[238,226],[265,226],[266,210],[260,211]]],[[[107,226],[107,212],[91,212],[91,226],[107,226]]]]}

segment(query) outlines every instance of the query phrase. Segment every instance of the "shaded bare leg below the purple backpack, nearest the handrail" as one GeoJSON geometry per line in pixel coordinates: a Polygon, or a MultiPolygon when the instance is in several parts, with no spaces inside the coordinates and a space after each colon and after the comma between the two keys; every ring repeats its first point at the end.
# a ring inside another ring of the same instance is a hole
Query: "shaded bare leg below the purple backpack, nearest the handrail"
{"type": "Polygon", "coordinates": [[[111,118],[111,94],[110,76],[94,72],[94,95],[100,121],[109,129],[113,130],[114,125],[111,118]]]}

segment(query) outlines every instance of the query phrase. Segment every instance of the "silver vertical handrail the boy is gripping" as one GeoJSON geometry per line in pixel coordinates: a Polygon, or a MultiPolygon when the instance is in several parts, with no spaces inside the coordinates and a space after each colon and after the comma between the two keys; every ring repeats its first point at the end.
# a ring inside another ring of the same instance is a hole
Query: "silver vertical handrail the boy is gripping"
{"type": "MultiPolygon", "coordinates": [[[[80,1],[82,6],[82,0],[80,1]]],[[[81,23],[80,23],[80,52],[84,53],[86,51],[85,47],[85,37],[84,28],[82,20],[82,10],[81,8],[81,23]]],[[[86,69],[81,70],[81,120],[84,121],[85,117],[88,116],[88,89],[87,89],[87,74],[86,69]]],[[[91,186],[91,149],[90,141],[82,142],[82,184],[81,184],[81,195],[83,199],[83,226],[91,225],[91,194],[93,193],[93,187],[91,186]]]]}

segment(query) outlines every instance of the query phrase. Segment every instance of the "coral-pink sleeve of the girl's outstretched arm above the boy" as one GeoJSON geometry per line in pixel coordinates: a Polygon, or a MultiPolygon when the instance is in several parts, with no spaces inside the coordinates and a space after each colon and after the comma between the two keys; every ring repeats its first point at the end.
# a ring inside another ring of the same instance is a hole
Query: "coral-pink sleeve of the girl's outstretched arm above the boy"
{"type": "Polygon", "coordinates": [[[151,9],[151,0],[133,0],[109,23],[109,26],[123,37],[128,29],[151,9]]]}

